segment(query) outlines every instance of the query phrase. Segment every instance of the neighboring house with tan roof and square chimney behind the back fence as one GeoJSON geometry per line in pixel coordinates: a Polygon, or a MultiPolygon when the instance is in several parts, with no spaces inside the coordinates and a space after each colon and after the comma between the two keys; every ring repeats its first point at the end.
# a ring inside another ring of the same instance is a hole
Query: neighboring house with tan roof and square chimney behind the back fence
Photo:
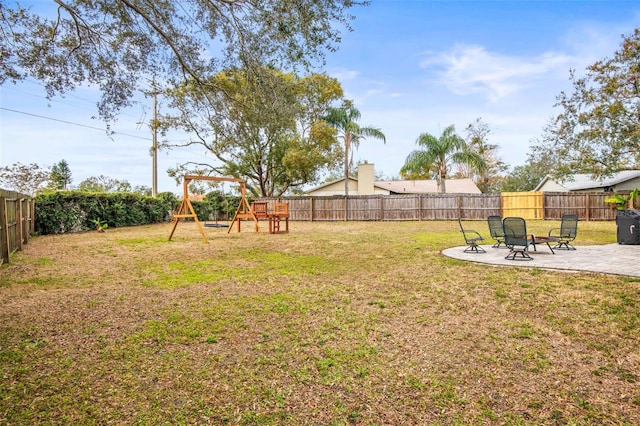
{"type": "MultiPolygon", "coordinates": [[[[435,180],[374,181],[373,164],[358,165],[358,178],[349,177],[349,195],[437,194],[435,180]]],[[[447,194],[481,194],[471,179],[447,179],[447,194]]],[[[329,197],[344,195],[344,179],[325,183],[305,191],[306,195],[329,197]]]]}

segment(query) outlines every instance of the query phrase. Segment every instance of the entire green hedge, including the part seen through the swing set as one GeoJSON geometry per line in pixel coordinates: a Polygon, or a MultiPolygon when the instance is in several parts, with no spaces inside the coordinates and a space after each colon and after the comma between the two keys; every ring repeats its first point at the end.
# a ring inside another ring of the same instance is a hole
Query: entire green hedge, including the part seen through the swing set
{"type": "MultiPolygon", "coordinates": [[[[148,197],[129,192],[95,193],[58,191],[36,196],[35,232],[39,235],[88,231],[100,220],[109,228],[168,222],[180,206],[180,200],[163,192],[148,197]]],[[[207,194],[203,201],[192,201],[193,209],[202,221],[230,220],[240,197],[219,192],[207,194]]]]}

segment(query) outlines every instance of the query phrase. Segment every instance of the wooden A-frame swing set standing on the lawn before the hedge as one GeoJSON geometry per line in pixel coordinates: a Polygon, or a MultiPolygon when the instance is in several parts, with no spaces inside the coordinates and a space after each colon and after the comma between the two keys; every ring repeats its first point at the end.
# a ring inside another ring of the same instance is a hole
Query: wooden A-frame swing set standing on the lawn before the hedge
{"type": "Polygon", "coordinates": [[[247,200],[247,185],[243,179],[239,178],[229,178],[229,177],[216,177],[216,176],[197,176],[197,175],[185,175],[184,182],[182,183],[182,204],[180,204],[180,208],[173,215],[173,229],[171,230],[171,234],[169,235],[169,240],[173,237],[173,233],[178,227],[178,222],[181,219],[191,218],[198,226],[198,230],[200,231],[200,235],[202,235],[202,239],[205,243],[209,243],[207,236],[204,234],[204,228],[202,227],[202,223],[198,220],[198,215],[193,209],[193,205],[191,204],[191,200],[189,200],[189,183],[192,180],[207,180],[213,182],[235,182],[240,185],[240,195],[241,200],[238,208],[236,209],[236,213],[233,216],[233,220],[229,224],[229,228],[227,229],[227,234],[231,232],[231,228],[233,228],[233,224],[237,222],[238,232],[240,232],[240,220],[241,219],[253,219],[255,223],[256,232],[260,232],[260,225],[258,223],[258,218],[256,214],[251,209],[249,205],[249,200],[247,200]]]}

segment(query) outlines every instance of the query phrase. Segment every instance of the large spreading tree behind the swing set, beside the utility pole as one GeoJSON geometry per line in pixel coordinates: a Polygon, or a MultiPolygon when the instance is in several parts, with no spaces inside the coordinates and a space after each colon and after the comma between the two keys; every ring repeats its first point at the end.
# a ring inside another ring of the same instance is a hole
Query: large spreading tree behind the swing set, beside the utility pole
{"type": "Polygon", "coordinates": [[[247,180],[254,195],[279,196],[314,182],[341,154],[333,129],[320,120],[342,96],[338,81],[324,74],[300,78],[269,67],[221,72],[207,83],[206,96],[187,84],[168,92],[179,111],[163,126],[188,132],[184,143],[200,145],[214,161],[187,163],[171,172],[217,174],[247,180]]]}

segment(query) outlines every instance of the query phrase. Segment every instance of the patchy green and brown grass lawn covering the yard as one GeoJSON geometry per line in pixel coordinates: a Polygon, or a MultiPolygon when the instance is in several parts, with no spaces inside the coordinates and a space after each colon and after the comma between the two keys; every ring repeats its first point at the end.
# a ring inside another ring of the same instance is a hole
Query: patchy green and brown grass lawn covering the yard
{"type": "Polygon", "coordinates": [[[0,424],[640,424],[640,279],[449,259],[454,221],[170,230],[0,267],[0,424]]]}

